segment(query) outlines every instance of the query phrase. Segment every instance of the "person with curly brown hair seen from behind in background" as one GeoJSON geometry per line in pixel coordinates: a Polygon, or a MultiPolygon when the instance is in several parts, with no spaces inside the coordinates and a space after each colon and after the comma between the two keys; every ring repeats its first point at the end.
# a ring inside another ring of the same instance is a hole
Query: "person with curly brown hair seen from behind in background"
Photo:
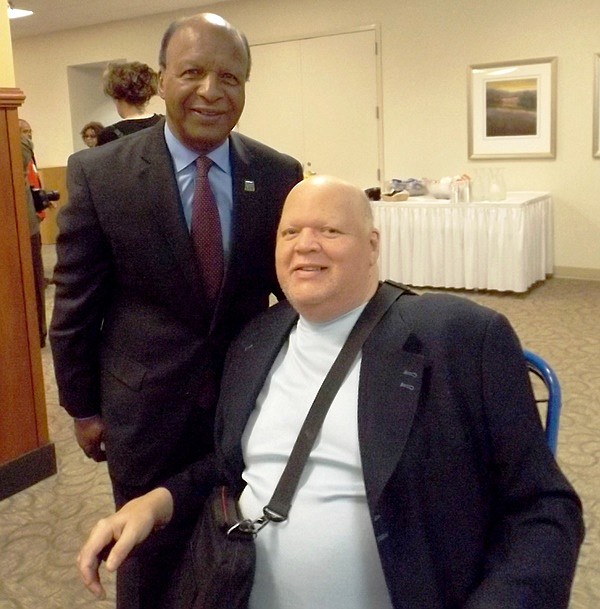
{"type": "Polygon", "coordinates": [[[155,125],[160,114],[146,108],[157,93],[158,75],[139,61],[109,63],[102,76],[104,93],[112,98],[123,119],[98,134],[98,146],[155,125]]]}

